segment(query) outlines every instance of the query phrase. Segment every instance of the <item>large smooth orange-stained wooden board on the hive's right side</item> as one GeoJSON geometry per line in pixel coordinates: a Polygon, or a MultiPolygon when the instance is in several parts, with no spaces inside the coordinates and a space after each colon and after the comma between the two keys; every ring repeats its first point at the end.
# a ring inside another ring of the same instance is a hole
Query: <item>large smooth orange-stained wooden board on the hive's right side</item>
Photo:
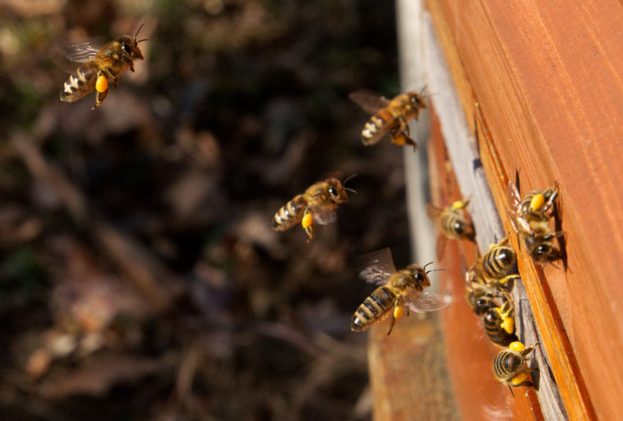
{"type": "MultiPolygon", "coordinates": [[[[568,270],[519,269],[570,420],[623,403],[623,4],[427,0],[509,230],[507,179],[558,181],[568,270]],[[474,103],[480,104],[476,111],[474,103]],[[496,162],[497,160],[497,162],[496,162]]],[[[515,244],[516,245],[516,244],[515,244]]]]}

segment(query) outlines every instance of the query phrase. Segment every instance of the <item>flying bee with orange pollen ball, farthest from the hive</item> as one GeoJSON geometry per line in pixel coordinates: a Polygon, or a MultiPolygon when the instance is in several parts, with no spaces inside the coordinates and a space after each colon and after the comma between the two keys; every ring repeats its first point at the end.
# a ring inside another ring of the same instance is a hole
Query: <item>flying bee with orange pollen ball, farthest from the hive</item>
{"type": "Polygon", "coordinates": [[[136,36],[143,25],[138,28],[134,37],[123,35],[105,44],[99,50],[89,43],[73,46],[73,52],[66,57],[72,62],[82,64],[63,84],[60,100],[63,102],[78,101],[95,88],[98,95],[92,109],[100,106],[108,94],[108,85],[112,84],[116,88],[121,73],[127,69],[134,72],[132,60],[143,59],[138,43],[147,41],[147,39],[136,41],[136,36]]]}

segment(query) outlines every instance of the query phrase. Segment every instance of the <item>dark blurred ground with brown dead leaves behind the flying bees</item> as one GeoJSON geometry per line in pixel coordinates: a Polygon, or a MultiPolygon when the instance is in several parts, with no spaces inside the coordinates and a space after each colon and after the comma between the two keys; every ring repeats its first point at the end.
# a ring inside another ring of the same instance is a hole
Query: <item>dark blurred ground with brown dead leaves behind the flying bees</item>
{"type": "Polygon", "coordinates": [[[0,419],[370,419],[357,258],[409,234],[347,95],[397,66],[391,2],[0,1],[0,419]],[[143,22],[99,109],[60,102],[64,46],[143,22]],[[352,174],[311,243],[271,230],[352,174]]]}

